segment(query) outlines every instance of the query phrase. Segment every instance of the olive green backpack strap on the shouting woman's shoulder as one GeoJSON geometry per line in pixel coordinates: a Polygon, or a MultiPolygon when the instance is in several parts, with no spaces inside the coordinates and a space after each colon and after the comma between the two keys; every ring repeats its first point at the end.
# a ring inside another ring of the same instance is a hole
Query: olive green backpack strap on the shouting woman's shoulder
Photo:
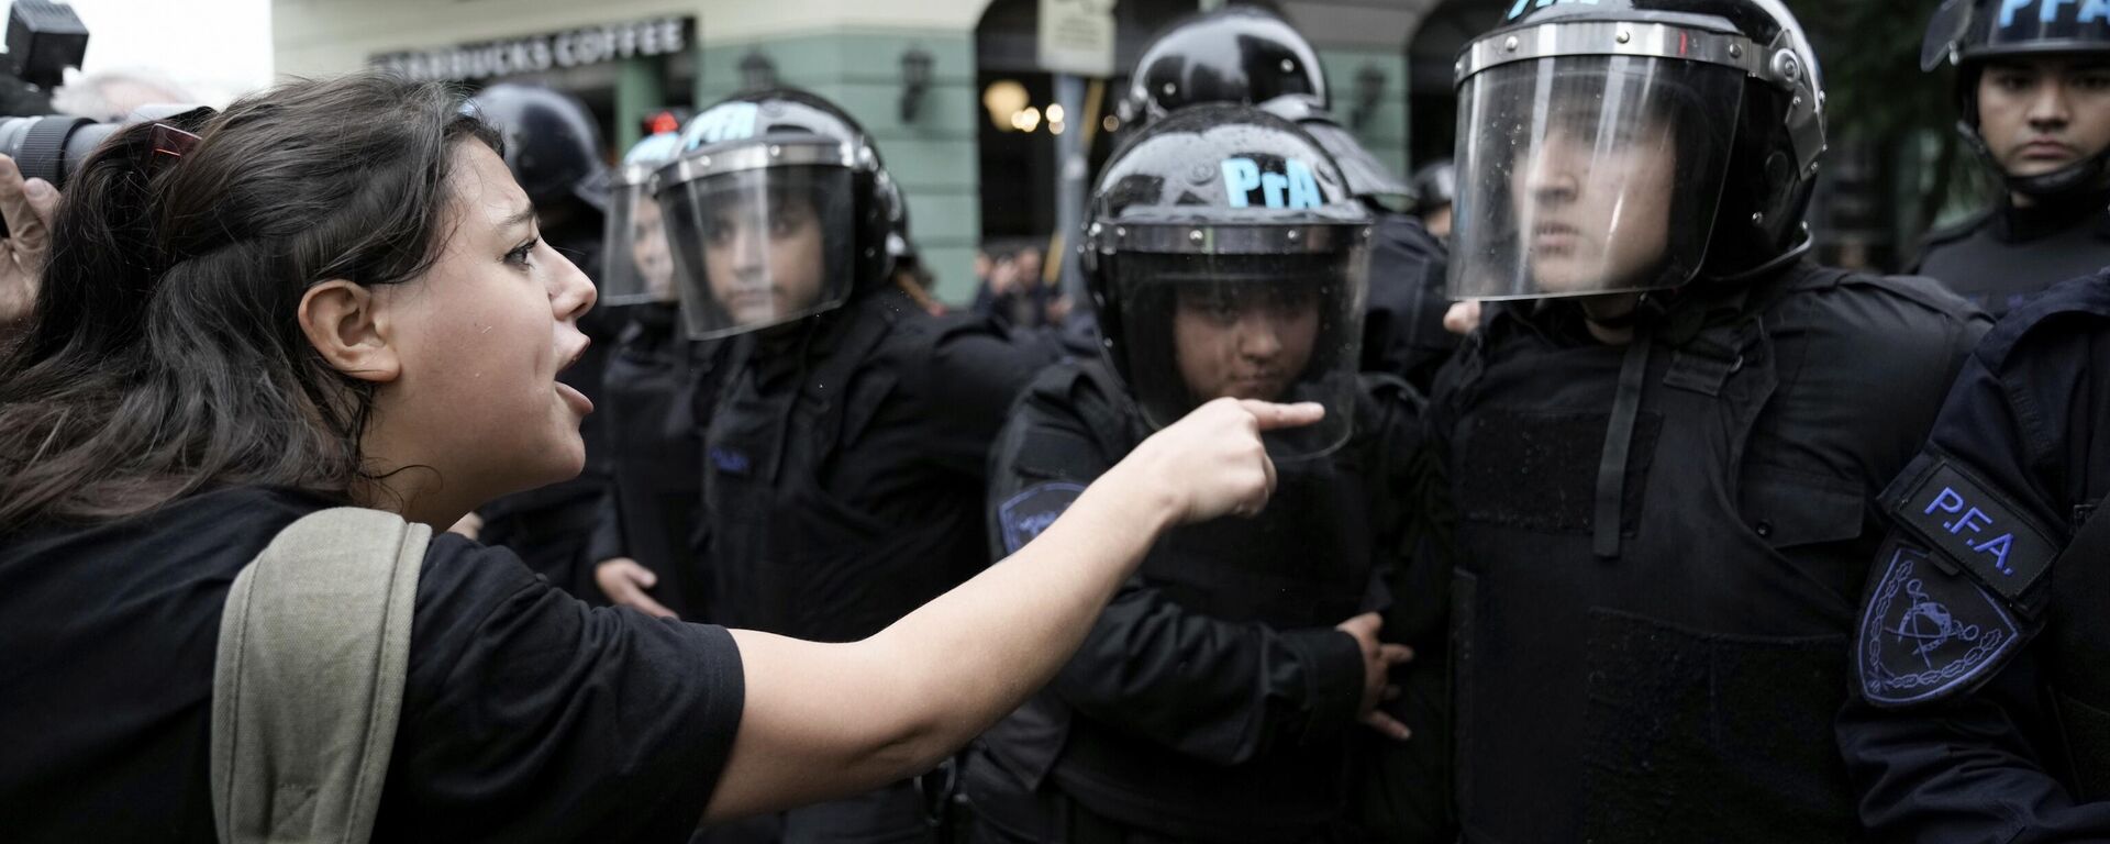
{"type": "Polygon", "coordinates": [[[213,821],[228,844],[373,833],[433,528],[340,506],[228,589],[213,667],[213,821]]]}

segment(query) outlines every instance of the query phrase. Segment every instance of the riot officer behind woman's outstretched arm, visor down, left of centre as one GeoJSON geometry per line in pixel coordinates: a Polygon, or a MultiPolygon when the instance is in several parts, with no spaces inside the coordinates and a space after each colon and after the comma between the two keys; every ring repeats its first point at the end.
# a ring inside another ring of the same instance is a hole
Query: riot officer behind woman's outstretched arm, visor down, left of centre
{"type": "MultiPolygon", "coordinates": [[[[703,420],[713,620],[865,639],[987,565],[990,441],[1047,357],[893,283],[878,150],[833,103],[747,93],[658,171],[694,340],[730,338],[703,420]]],[[[785,814],[787,842],[931,836],[909,783],[785,814]]]]}

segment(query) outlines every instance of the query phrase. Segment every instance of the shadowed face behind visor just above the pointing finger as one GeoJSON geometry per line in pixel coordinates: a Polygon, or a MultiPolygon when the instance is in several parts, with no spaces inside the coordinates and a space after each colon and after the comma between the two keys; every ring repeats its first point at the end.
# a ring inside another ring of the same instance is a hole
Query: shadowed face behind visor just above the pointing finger
{"type": "Polygon", "coordinates": [[[1312,289],[1194,285],[1177,295],[1173,350],[1196,401],[1279,401],[1310,363],[1319,338],[1312,289]]]}

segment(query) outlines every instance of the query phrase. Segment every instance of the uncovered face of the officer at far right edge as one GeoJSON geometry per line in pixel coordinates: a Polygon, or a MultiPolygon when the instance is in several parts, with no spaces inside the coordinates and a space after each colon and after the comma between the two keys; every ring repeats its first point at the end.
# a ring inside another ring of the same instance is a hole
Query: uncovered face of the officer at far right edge
{"type": "Polygon", "coordinates": [[[2099,57],[1990,61],[1979,137],[2009,175],[2055,173],[2110,148],[2110,63],[2099,57]]]}

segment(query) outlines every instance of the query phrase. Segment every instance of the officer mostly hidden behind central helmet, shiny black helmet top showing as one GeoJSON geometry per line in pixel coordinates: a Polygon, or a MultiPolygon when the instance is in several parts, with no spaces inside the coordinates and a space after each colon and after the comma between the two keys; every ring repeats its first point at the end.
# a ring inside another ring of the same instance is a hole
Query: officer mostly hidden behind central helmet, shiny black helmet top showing
{"type": "Polygon", "coordinates": [[[1401,376],[1426,388],[1458,346],[1443,331],[1443,245],[1414,215],[1384,200],[1412,190],[1342,129],[1319,51],[1281,17],[1226,6],[1169,25],[1144,49],[1123,97],[1123,120],[1148,127],[1196,103],[1247,103],[1296,120],[1340,162],[1348,190],[1376,215],[1369,310],[1363,321],[1363,369],[1401,376]]]}

